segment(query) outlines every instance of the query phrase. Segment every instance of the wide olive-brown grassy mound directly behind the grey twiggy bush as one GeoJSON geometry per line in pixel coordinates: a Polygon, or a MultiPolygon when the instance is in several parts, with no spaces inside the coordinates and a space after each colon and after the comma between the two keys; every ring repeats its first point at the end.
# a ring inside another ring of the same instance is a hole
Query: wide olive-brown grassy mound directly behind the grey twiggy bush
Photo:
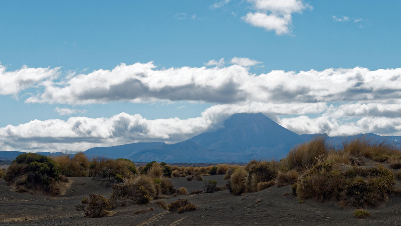
{"type": "Polygon", "coordinates": [[[89,175],[106,186],[122,183],[124,177],[133,176],[134,173],[136,173],[135,165],[128,159],[94,158],[89,166],[89,175]]]}

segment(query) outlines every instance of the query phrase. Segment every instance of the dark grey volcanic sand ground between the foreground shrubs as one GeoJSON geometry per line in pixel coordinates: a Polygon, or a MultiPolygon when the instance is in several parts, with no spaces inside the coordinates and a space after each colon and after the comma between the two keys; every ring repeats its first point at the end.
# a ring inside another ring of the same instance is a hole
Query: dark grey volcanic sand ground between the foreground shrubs
{"type": "MultiPolygon", "coordinates": [[[[205,180],[215,179],[223,186],[224,175],[205,176],[205,180]]],[[[57,197],[17,193],[0,179],[0,225],[42,226],[233,226],[233,225],[400,225],[401,197],[390,197],[385,206],[369,209],[371,217],[357,219],[352,216],[354,209],[336,207],[330,202],[306,200],[299,203],[291,193],[291,187],[273,186],[263,191],[247,193],[242,196],[230,195],[227,190],[215,193],[181,195],[166,197],[167,204],[186,198],[195,204],[196,210],[181,214],[170,213],[152,200],[147,205],[119,206],[105,218],[84,218],[75,205],[89,193],[100,193],[106,197],[111,189],[102,187],[90,177],[69,177],[71,187],[64,195],[57,197]],[[131,215],[136,210],[154,208],[154,211],[131,215]]],[[[186,178],[173,178],[176,189],[186,187],[203,190],[202,181],[186,181],[186,178]]]]}

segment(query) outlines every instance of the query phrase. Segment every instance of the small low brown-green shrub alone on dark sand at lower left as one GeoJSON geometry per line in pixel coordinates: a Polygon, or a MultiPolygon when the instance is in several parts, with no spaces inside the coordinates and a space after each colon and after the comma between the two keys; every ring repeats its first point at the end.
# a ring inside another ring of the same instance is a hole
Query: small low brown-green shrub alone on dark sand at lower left
{"type": "Polygon", "coordinates": [[[89,200],[83,198],[81,204],[75,206],[75,210],[83,211],[86,218],[98,218],[107,216],[107,210],[111,210],[113,206],[103,195],[89,194],[89,200]]]}

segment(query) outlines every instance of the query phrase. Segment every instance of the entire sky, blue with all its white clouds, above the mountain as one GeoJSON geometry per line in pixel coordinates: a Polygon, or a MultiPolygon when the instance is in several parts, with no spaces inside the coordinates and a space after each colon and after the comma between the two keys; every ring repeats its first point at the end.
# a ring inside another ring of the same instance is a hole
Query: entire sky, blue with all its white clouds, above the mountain
{"type": "Polygon", "coordinates": [[[400,7],[2,2],[0,150],[176,142],[256,111],[298,133],[400,135],[400,7]]]}

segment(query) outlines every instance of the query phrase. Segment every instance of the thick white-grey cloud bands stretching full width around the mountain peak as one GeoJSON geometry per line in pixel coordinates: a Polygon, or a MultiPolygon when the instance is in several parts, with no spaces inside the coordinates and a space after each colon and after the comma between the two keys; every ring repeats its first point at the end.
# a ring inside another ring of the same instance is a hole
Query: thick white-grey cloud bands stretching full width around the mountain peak
{"type": "MultiPolygon", "coordinates": [[[[168,69],[158,69],[153,62],[120,64],[111,70],[68,75],[59,68],[24,66],[7,72],[1,66],[0,94],[21,98],[28,95],[18,96],[23,90],[34,89],[27,103],[76,106],[180,100],[214,105],[200,117],[185,120],[148,120],[122,112],[110,118],[80,116],[8,125],[0,128],[0,150],[84,151],[139,141],[174,143],[219,128],[225,118],[243,112],[262,112],[299,134],[401,135],[401,68],[275,70],[257,75],[249,71],[257,61],[234,57],[230,62],[234,64],[212,61],[209,67],[168,69]]],[[[85,113],[76,108],[55,111],[85,113]]]]}

